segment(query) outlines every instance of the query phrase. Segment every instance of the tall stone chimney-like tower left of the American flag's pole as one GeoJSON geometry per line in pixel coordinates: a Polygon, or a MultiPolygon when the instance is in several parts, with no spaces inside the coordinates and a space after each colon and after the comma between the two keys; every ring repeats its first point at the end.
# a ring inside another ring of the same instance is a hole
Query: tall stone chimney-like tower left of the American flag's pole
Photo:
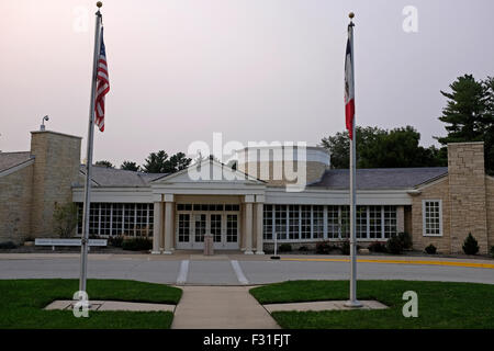
{"type": "Polygon", "coordinates": [[[31,234],[53,237],[55,204],[71,202],[71,185],[78,179],[81,137],[43,131],[31,132],[33,197],[31,234]]]}

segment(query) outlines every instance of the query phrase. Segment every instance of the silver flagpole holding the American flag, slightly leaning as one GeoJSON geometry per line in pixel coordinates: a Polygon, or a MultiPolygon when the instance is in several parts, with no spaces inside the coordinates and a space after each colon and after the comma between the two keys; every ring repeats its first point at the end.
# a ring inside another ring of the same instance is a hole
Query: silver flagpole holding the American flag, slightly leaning
{"type": "Polygon", "coordinates": [[[92,148],[94,135],[94,95],[97,89],[98,58],[100,49],[101,33],[101,12],[103,4],[97,2],[98,11],[96,13],[94,27],[94,53],[92,59],[92,79],[91,79],[91,100],[89,102],[89,126],[88,126],[88,146],[86,160],[86,182],[85,182],[85,203],[82,213],[82,238],[80,249],[80,280],[79,291],[86,292],[86,281],[88,275],[88,246],[89,246],[89,208],[91,205],[91,173],[92,173],[92,148]]]}

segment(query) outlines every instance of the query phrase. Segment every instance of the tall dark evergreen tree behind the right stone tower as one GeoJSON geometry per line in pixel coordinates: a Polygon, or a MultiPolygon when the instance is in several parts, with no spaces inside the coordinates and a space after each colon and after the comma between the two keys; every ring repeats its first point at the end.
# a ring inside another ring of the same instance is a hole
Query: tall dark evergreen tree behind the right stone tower
{"type": "Polygon", "coordinates": [[[484,141],[485,170],[494,173],[494,79],[478,81],[472,75],[458,77],[441,91],[448,99],[439,121],[448,135],[436,137],[441,145],[462,141],[484,141]]]}

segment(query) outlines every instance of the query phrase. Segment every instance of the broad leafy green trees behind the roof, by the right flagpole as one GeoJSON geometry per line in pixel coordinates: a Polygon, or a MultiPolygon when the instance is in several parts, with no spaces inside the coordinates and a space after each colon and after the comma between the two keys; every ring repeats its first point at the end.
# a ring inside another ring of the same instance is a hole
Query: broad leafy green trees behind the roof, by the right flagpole
{"type": "MultiPolygon", "coordinates": [[[[403,168],[446,166],[446,152],[435,146],[419,146],[420,134],[412,126],[391,131],[379,127],[356,128],[358,168],[403,168]]],[[[332,168],[349,168],[348,132],[323,138],[332,155],[332,168]]]]}

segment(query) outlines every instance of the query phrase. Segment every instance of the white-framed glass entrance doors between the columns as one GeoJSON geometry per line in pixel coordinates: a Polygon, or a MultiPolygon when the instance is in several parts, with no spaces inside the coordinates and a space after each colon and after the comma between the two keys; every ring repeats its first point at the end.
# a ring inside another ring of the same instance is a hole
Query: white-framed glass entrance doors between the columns
{"type": "Polygon", "coordinates": [[[238,213],[178,212],[177,249],[203,250],[204,236],[213,236],[215,250],[239,249],[238,213]]]}

